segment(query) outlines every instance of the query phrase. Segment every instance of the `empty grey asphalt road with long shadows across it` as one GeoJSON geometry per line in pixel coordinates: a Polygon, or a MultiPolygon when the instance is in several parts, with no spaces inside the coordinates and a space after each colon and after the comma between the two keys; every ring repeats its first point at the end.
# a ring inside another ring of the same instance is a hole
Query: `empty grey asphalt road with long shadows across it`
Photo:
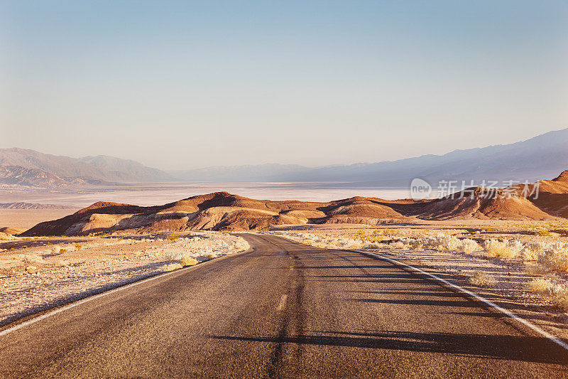
{"type": "Polygon", "coordinates": [[[388,262],[280,237],[0,336],[2,378],[542,377],[568,354],[388,262]]]}

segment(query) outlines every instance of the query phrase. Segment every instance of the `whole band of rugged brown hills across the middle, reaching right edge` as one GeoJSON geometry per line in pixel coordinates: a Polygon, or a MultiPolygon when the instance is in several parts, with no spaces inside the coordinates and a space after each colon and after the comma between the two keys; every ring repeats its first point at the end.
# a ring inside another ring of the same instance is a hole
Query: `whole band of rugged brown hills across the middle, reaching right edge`
{"type": "Polygon", "coordinates": [[[270,225],[305,223],[378,225],[386,220],[410,222],[416,219],[568,218],[568,171],[552,181],[537,183],[526,188],[468,188],[452,196],[422,201],[362,197],[327,203],[268,201],[216,192],[151,207],[99,202],[59,220],[39,223],[22,235],[87,235],[119,230],[129,233],[253,230],[270,225]],[[537,183],[538,194],[534,191],[537,183]],[[528,196],[524,196],[525,192],[528,196]]]}

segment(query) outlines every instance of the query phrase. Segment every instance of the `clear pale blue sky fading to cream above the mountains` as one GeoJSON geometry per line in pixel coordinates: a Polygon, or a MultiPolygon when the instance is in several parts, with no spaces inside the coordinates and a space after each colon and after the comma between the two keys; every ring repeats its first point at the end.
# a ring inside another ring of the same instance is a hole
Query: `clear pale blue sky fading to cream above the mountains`
{"type": "Polygon", "coordinates": [[[568,1],[0,2],[0,148],[160,169],[568,127],[568,1]]]}

